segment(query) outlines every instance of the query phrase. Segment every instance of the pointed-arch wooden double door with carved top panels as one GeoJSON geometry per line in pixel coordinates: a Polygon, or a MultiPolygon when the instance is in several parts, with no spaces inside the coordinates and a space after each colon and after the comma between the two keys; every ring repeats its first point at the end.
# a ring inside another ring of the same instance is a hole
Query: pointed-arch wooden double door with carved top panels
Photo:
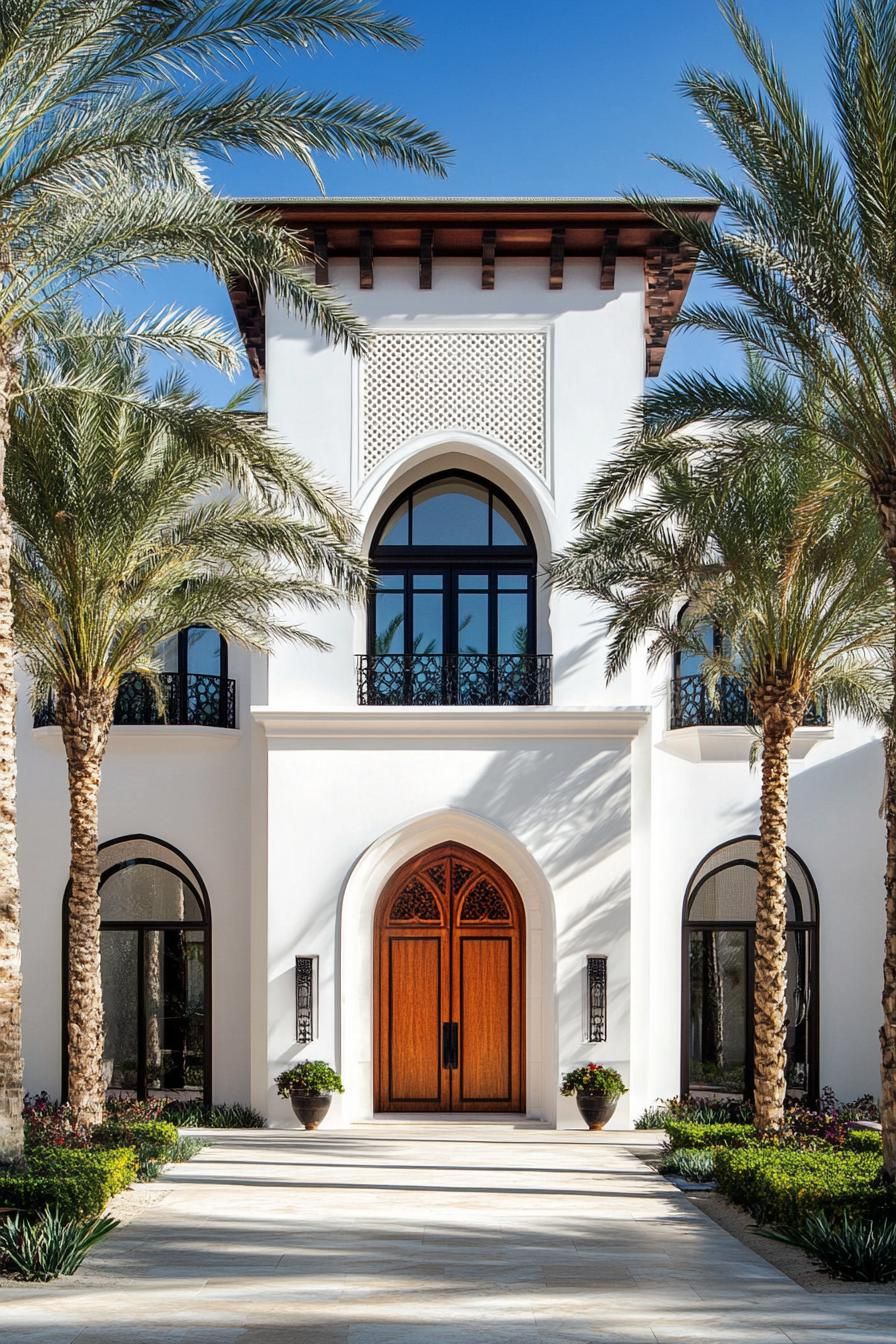
{"type": "Polygon", "coordinates": [[[523,1111],[523,902],[459,844],[400,868],[375,921],[377,1110],[523,1111]]]}

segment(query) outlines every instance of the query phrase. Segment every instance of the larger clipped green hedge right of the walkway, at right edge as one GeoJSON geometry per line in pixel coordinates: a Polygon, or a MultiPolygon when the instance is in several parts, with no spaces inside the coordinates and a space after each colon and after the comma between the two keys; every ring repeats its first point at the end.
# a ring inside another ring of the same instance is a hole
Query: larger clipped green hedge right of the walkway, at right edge
{"type": "Polygon", "coordinates": [[[760,1223],[797,1224],[809,1214],[896,1212],[881,1173],[880,1154],[868,1152],[756,1144],[716,1153],[719,1189],[760,1223]]]}

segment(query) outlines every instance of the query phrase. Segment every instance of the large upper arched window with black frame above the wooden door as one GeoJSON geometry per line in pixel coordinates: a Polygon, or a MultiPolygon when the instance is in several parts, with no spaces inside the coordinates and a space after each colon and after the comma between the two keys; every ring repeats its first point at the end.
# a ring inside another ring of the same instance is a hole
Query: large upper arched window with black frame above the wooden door
{"type": "Polygon", "coordinates": [[[543,704],[532,534],[496,485],[442,472],[400,495],[371,562],[359,696],[369,704],[543,704]]]}

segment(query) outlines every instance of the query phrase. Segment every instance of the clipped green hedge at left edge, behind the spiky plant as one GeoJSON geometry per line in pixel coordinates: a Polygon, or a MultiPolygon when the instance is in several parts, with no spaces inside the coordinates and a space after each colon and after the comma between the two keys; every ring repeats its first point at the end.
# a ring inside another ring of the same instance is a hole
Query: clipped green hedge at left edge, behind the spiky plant
{"type": "Polygon", "coordinates": [[[0,1175],[0,1203],[28,1214],[55,1206],[63,1218],[98,1218],[136,1179],[133,1148],[35,1148],[24,1172],[0,1175]]]}

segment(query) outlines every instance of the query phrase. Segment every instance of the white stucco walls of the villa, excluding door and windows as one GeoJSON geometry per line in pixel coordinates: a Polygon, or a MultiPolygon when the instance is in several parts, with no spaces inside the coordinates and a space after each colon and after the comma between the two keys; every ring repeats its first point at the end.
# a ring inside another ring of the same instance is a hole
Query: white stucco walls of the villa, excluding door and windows
{"type": "MultiPolygon", "coordinates": [[[[537,333],[541,426],[533,429],[527,403],[527,422],[494,417],[505,439],[497,429],[454,422],[390,441],[392,411],[371,405],[361,362],[269,302],[273,429],[344,488],[365,546],[410,484],[462,469],[505,492],[547,562],[572,535],[576,499],[643,390],[642,259],[621,257],[613,289],[595,285],[584,257],[567,257],[557,289],[547,288],[544,261],[525,257],[500,262],[493,290],[481,286],[478,258],[466,257],[437,258],[431,289],[419,288],[418,265],[404,257],[377,259],[372,289],[359,288],[351,258],[330,259],[329,280],[375,333],[537,333]]],[[[484,355],[476,340],[467,344],[470,359],[488,360],[488,343],[484,355]]],[[[438,358],[461,348],[447,343],[438,358]]],[[[520,349],[531,358],[525,343],[520,349]]],[[[414,367],[404,379],[396,399],[412,395],[414,367]]],[[[481,414],[488,419],[488,407],[481,414]]],[[[294,646],[265,663],[231,650],[235,730],[116,727],[103,771],[103,840],[159,837],[204,880],[215,1099],[251,1099],[287,1124],[274,1074],[302,1056],[326,1058],[347,1085],[328,1122],[373,1113],[376,903],[402,864],[443,841],[497,864],[525,910],[527,1113],[578,1124],[557,1083],[587,1060],[614,1064],[629,1083],[614,1125],[676,1094],[682,903],[709,851],[755,835],[759,778],[747,761],[748,731],[670,730],[670,668],[649,672],[637,661],[607,684],[598,613],[541,581],[536,638],[537,652],[552,656],[551,704],[359,706],[367,613],[310,620],[330,652],[294,646]],[[298,954],[318,958],[316,1039],[301,1048],[298,954]],[[586,1039],[587,956],[607,958],[599,1043],[586,1039]]],[[[799,738],[790,844],[818,892],[817,1081],[854,1095],[877,1090],[881,750],[849,722],[799,738]]],[[[26,703],[19,761],[27,1082],[55,1093],[64,758],[58,730],[34,730],[26,703]]]]}

